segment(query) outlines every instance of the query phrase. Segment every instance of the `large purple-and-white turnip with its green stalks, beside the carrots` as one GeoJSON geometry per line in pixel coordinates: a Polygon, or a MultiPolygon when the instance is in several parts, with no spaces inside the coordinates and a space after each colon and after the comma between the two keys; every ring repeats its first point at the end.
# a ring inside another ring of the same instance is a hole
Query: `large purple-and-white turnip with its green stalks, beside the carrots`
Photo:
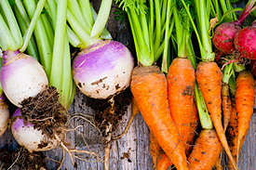
{"type": "Polygon", "coordinates": [[[90,98],[110,98],[129,86],[134,67],[126,46],[101,38],[112,0],[102,1],[95,21],[88,1],[69,3],[67,20],[80,41],[75,47],[81,48],[73,63],[75,85],[90,98]]]}

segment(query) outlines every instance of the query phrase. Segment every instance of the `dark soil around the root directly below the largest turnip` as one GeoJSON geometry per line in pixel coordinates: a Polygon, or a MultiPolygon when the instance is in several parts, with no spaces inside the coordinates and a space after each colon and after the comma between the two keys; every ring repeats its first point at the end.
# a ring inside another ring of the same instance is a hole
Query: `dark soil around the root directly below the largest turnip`
{"type": "Polygon", "coordinates": [[[130,89],[127,88],[116,95],[114,97],[114,104],[112,104],[110,98],[88,98],[87,105],[95,111],[95,124],[101,132],[105,132],[109,124],[113,124],[113,130],[115,130],[118,122],[122,120],[122,117],[126,113],[131,101],[130,89]],[[113,109],[112,106],[114,106],[114,114],[111,113],[113,109]]]}

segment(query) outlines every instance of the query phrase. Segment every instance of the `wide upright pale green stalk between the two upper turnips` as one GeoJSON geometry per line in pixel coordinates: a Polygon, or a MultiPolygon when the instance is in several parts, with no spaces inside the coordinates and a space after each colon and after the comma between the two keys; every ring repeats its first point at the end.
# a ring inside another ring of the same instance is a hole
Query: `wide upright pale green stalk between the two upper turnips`
{"type": "Polygon", "coordinates": [[[54,37],[53,59],[49,78],[49,85],[61,89],[63,55],[66,35],[67,0],[61,0],[57,6],[57,21],[54,37]]]}

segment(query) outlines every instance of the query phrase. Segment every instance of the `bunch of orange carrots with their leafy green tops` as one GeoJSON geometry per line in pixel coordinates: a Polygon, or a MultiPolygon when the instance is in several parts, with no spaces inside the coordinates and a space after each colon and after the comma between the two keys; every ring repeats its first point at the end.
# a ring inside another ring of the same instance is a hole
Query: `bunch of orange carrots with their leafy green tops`
{"type": "MultiPolygon", "coordinates": [[[[143,4],[141,8],[149,9],[142,12],[128,6],[124,8],[128,12],[139,61],[139,66],[133,71],[131,91],[151,131],[150,150],[154,168],[168,169],[173,163],[177,169],[210,170],[218,162],[223,147],[229,157],[230,168],[237,169],[238,153],[249,129],[249,119],[253,111],[254,79],[250,72],[242,71],[239,72],[235,82],[234,65],[236,64],[227,64],[222,71],[214,62],[215,53],[209,37],[210,14],[214,12],[214,8],[207,9],[214,7],[216,2],[210,2],[212,3],[210,7],[207,7],[210,3],[203,0],[172,2],[176,5],[169,8],[167,17],[164,16],[166,19],[171,17],[171,20],[166,21],[166,28],[162,28],[161,32],[165,33],[162,36],[165,48],[162,53],[161,70],[167,72],[167,77],[156,66],[152,66],[156,61],[154,55],[158,55],[159,51],[155,52],[155,48],[151,48],[155,47],[151,38],[157,37],[152,36],[157,32],[154,30],[155,27],[152,27],[153,22],[157,23],[157,15],[155,18],[152,17],[152,10],[157,11],[157,6],[154,7],[156,2],[151,3],[148,7],[144,7],[145,4],[141,3],[143,4]],[[191,3],[195,3],[194,9],[191,9],[191,3]],[[195,16],[192,16],[192,10],[196,13],[195,16]],[[137,19],[132,16],[134,14],[138,15],[137,19]],[[139,17],[140,15],[146,17],[139,17]],[[141,20],[141,24],[136,22],[139,26],[135,26],[134,20],[141,20]],[[142,25],[145,23],[148,24],[142,25]],[[175,32],[171,33],[173,25],[175,32]],[[197,66],[193,45],[190,42],[191,31],[187,25],[193,27],[200,48],[202,61],[197,66]],[[142,41],[141,34],[145,35],[142,41]],[[176,49],[178,57],[168,66],[171,60],[168,51],[170,48],[167,47],[169,42],[178,48],[176,49]],[[147,48],[146,52],[144,48],[147,48]],[[189,60],[188,57],[191,56],[193,57],[189,60]],[[229,90],[234,85],[236,85],[235,92],[229,90]],[[230,93],[236,93],[236,107],[235,102],[230,98],[230,93]],[[196,139],[195,146],[188,149],[189,145],[194,145],[193,139],[198,124],[193,110],[195,112],[198,110],[203,130],[196,139]],[[227,133],[236,140],[226,137],[226,129],[227,133]],[[227,141],[231,141],[233,145],[231,146],[227,141]]],[[[169,4],[171,3],[168,3],[167,8],[169,4]]],[[[222,7],[224,5],[222,3],[222,7]]],[[[226,2],[226,6],[231,7],[229,1],[226,2]]],[[[161,47],[159,46],[158,49],[161,47]]]]}

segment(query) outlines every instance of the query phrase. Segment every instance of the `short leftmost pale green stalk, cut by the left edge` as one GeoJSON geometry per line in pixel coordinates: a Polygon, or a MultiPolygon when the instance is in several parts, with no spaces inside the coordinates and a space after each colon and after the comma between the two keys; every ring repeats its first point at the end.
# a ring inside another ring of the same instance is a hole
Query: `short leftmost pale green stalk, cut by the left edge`
{"type": "Polygon", "coordinates": [[[8,29],[2,15],[0,15],[0,40],[3,51],[6,51],[8,49],[13,51],[19,49],[19,46],[17,45],[12,33],[8,29]]]}

